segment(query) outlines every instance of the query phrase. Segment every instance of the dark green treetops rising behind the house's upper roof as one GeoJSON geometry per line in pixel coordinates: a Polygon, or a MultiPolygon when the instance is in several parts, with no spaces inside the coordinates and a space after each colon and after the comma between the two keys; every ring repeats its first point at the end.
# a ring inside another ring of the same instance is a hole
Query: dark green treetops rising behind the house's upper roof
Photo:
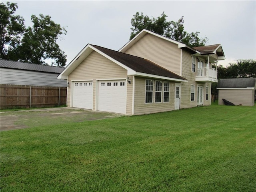
{"type": "Polygon", "coordinates": [[[200,32],[188,33],[184,31],[183,16],[177,22],[167,21],[167,17],[163,12],[161,16],[150,19],[147,15],[144,16],[143,13],[136,12],[131,20],[132,28],[130,29],[132,32],[130,40],[143,29],[147,29],[191,47],[204,46],[206,44],[207,38],[200,39],[200,32]]]}

